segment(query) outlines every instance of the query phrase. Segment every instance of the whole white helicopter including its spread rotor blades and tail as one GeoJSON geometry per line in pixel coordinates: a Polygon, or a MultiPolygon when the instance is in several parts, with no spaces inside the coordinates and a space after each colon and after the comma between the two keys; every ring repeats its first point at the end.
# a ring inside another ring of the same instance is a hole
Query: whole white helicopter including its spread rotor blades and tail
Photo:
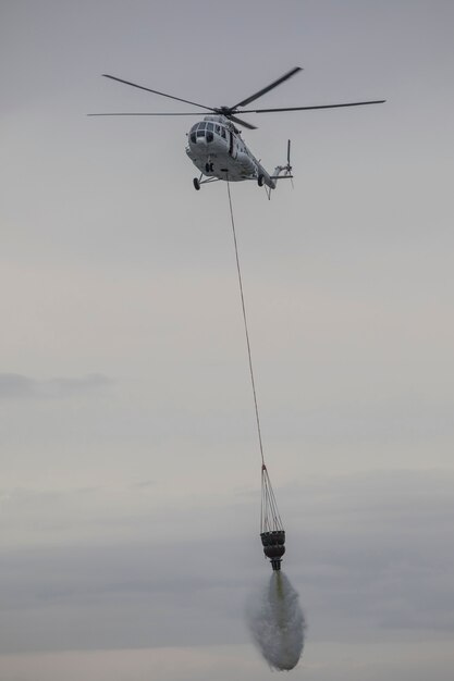
{"type": "MultiPolygon", "coordinates": [[[[254,95],[242,99],[233,107],[207,107],[181,97],[174,97],[159,90],[154,90],[149,87],[132,83],[131,81],[124,81],[116,76],[103,73],[105,78],[110,78],[131,87],[136,87],[140,90],[154,92],[161,97],[174,99],[176,101],[185,102],[198,109],[205,109],[210,113],[205,115],[201,122],[195,123],[191,131],[186,134],[188,138],[186,153],[192,160],[194,165],[200,171],[198,177],[194,177],[194,188],[199,190],[203,184],[217,182],[220,179],[228,182],[242,182],[242,181],[255,181],[259,187],[266,186],[268,198],[272,189],[277,188],[279,179],[292,179],[292,165],[290,162],[291,140],[287,141],[287,154],[286,163],[283,165],[277,165],[272,173],[268,173],[261,165],[260,161],[251,153],[243,140],[242,133],[237,125],[246,127],[248,129],[256,129],[257,126],[238,117],[237,114],[249,113],[274,113],[282,111],[307,111],[311,109],[338,109],[341,107],[363,107],[366,104],[381,104],[385,100],[372,100],[372,101],[354,101],[340,104],[318,104],[309,107],[281,107],[277,109],[243,109],[253,101],[262,97],[270,90],[278,87],[299,71],[303,71],[300,66],[295,66],[287,73],[284,73],[280,78],[273,81],[266,87],[261,88],[254,95]],[[236,124],[236,125],[235,125],[236,124]],[[205,177],[205,178],[204,178],[205,177]]],[[[164,113],[89,113],[91,116],[136,116],[136,115],[169,115],[169,116],[186,116],[186,115],[200,115],[199,111],[187,112],[164,112],[164,113]]]]}

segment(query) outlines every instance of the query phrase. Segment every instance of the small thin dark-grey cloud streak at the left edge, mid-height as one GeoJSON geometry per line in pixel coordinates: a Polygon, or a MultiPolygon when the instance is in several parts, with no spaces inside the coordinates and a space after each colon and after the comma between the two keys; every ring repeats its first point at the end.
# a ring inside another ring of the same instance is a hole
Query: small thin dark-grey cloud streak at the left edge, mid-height
{"type": "Polygon", "coordinates": [[[111,379],[90,373],[82,379],[56,377],[38,381],[19,373],[0,373],[0,399],[36,399],[62,398],[103,388],[111,383],[111,379]]]}

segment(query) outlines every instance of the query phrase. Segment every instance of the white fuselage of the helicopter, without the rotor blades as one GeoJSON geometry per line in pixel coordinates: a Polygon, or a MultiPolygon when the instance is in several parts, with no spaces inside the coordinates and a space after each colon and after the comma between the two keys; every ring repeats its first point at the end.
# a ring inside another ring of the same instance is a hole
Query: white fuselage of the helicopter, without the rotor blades
{"type": "Polygon", "coordinates": [[[275,175],[267,173],[242,139],[241,132],[223,115],[207,115],[187,134],[186,153],[207,177],[241,182],[259,181],[275,189],[275,175]]]}

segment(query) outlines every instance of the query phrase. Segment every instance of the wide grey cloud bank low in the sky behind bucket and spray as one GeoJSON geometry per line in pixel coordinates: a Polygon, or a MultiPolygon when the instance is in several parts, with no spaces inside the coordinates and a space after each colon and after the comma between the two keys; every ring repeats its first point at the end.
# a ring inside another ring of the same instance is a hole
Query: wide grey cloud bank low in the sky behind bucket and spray
{"type": "MultiPolygon", "coordinates": [[[[453,482],[386,471],[277,490],[310,641],[451,635],[453,482]]],[[[13,503],[9,517],[25,513],[47,544],[0,552],[4,653],[247,641],[244,604],[269,572],[253,500],[173,508],[127,485],[124,498],[19,491],[13,503]],[[56,518],[59,534],[46,531],[56,518]]]]}

